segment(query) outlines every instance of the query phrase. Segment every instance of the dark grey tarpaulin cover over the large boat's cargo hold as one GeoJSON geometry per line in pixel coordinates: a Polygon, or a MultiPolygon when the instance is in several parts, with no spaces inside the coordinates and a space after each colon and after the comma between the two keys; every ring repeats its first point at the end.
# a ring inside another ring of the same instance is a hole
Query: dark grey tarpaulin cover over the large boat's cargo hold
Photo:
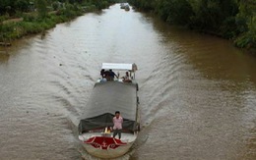
{"type": "Polygon", "coordinates": [[[112,127],[115,111],[124,119],[123,129],[134,131],[137,122],[137,83],[97,82],[80,121],[80,133],[112,127]]]}

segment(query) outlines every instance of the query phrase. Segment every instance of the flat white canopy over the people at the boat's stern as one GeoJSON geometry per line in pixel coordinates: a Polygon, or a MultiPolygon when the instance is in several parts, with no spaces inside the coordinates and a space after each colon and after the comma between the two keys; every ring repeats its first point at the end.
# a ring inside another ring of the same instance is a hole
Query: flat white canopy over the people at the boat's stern
{"type": "Polygon", "coordinates": [[[136,64],[121,64],[121,63],[102,63],[101,69],[105,70],[129,70],[130,72],[135,73],[138,68],[136,64]]]}

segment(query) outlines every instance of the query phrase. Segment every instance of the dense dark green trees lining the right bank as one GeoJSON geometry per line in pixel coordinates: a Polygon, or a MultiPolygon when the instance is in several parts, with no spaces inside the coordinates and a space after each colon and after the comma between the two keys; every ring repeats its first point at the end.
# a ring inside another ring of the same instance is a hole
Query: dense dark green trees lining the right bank
{"type": "Polygon", "coordinates": [[[255,0],[130,0],[175,25],[233,39],[237,47],[256,48],[255,0]]]}

